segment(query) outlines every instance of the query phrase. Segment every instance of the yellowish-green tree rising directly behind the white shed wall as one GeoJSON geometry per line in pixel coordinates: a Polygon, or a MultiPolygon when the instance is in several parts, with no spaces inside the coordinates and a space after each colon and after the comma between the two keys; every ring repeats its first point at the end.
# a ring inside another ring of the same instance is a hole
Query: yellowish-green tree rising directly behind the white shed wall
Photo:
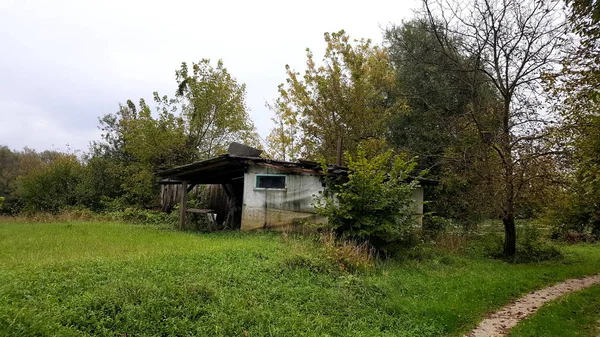
{"type": "Polygon", "coordinates": [[[326,33],[325,42],[323,65],[307,49],[304,75],[286,66],[268,138],[278,158],[334,162],[340,139],[353,152],[362,141],[386,138],[386,123],[401,108],[391,99],[394,71],[384,48],[351,42],[344,31],[326,33]]]}

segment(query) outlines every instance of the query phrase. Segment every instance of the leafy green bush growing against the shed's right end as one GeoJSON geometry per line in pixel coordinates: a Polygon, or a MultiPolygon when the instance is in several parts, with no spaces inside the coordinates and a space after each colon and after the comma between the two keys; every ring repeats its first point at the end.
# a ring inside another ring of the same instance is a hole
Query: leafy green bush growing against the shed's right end
{"type": "Polygon", "coordinates": [[[387,151],[367,158],[359,148],[348,157],[348,178],[328,179],[317,212],[338,235],[368,242],[384,254],[416,243],[412,193],[418,181],[406,179],[416,164],[387,151]]]}

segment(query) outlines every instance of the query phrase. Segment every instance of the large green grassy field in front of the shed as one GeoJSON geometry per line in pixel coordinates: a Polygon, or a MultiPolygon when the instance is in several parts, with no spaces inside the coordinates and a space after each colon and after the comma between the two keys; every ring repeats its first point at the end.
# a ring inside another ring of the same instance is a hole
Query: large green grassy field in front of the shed
{"type": "Polygon", "coordinates": [[[0,223],[0,336],[458,336],[510,299],[600,272],[432,254],[348,273],[307,239],[121,223],[0,223]]]}

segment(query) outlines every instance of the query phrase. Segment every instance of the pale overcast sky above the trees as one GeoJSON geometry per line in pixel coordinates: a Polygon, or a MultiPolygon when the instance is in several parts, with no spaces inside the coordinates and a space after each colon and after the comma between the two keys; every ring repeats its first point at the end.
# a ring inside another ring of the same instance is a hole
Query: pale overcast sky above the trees
{"type": "Polygon", "coordinates": [[[321,55],[323,33],[345,29],[381,42],[412,16],[410,1],[0,0],[0,145],[87,150],[98,117],[119,102],[172,96],[181,62],[223,59],[247,85],[264,138],[266,101],[286,64],[321,55]]]}

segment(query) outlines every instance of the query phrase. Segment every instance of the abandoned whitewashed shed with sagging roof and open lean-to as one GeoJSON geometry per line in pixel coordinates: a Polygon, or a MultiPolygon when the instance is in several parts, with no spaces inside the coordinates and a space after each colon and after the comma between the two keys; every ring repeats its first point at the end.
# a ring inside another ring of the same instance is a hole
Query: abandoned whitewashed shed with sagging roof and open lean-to
{"type": "MultiPolygon", "coordinates": [[[[326,170],[310,161],[288,162],[260,157],[262,151],[238,143],[227,154],[158,173],[163,178],[161,203],[169,211],[180,204],[180,227],[188,214],[206,215],[220,228],[294,229],[305,222],[323,223],[314,200],[324,189],[324,177],[344,177],[348,169],[326,170]],[[208,186],[208,209],[187,208],[187,192],[208,186]],[[185,191],[186,193],[184,193],[185,191]]],[[[414,215],[423,217],[423,188],[413,193],[414,215]]]]}

